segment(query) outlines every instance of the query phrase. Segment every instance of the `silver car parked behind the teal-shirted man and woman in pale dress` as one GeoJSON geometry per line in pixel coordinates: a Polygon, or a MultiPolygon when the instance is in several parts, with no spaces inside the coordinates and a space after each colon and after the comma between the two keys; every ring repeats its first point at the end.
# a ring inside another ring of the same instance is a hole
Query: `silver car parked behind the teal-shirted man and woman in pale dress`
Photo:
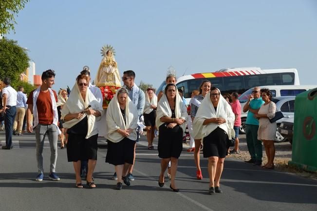
{"type": "MultiPolygon", "coordinates": [[[[294,118],[294,103],[295,103],[295,97],[296,96],[279,96],[279,97],[272,97],[272,101],[276,104],[276,111],[281,111],[284,115],[283,118],[279,119],[276,123],[278,127],[280,126],[280,123],[283,121],[287,121],[290,118],[294,118]]],[[[241,124],[243,124],[244,130],[245,130],[245,120],[246,117],[241,118],[241,124]]],[[[280,134],[280,132],[277,130],[276,142],[283,142],[284,137],[280,134]]]]}

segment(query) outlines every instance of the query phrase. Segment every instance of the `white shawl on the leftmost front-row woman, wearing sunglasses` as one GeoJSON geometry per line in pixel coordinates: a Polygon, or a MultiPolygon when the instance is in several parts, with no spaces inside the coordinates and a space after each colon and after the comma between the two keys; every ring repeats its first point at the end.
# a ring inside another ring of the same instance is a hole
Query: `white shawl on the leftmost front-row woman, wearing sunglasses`
{"type": "MultiPolygon", "coordinates": [[[[77,81],[69,95],[66,103],[61,110],[61,119],[64,119],[68,114],[75,114],[83,112],[88,106],[91,106],[91,109],[97,110],[102,115],[103,109],[97,99],[93,96],[93,93],[87,87],[85,100],[80,94],[77,81]]],[[[71,119],[63,123],[64,128],[71,128],[78,122],[80,122],[85,116],[88,117],[88,132],[86,138],[89,138],[95,134],[98,134],[98,130],[95,124],[96,117],[94,115],[87,115],[84,113],[83,117],[80,119],[71,119]]]]}

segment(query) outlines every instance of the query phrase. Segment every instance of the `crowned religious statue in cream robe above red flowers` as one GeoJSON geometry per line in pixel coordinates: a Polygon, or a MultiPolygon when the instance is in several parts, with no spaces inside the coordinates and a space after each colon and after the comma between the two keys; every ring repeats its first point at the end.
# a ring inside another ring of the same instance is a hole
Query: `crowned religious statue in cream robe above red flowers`
{"type": "Polygon", "coordinates": [[[114,59],[115,51],[111,45],[106,45],[101,48],[103,56],[98,68],[95,84],[100,88],[103,96],[103,107],[107,108],[109,102],[115,95],[115,91],[121,87],[121,78],[114,59]]]}

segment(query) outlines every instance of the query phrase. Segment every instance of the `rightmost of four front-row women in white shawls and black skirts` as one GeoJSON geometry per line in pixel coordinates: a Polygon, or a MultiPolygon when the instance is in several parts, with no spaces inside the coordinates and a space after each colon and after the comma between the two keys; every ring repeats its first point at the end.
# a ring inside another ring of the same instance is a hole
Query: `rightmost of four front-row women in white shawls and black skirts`
{"type": "Polygon", "coordinates": [[[203,138],[203,154],[208,158],[210,194],[222,192],[220,177],[224,169],[227,139],[231,139],[234,119],[231,106],[221,96],[219,89],[212,87],[202,101],[193,122],[194,136],[203,138]]]}

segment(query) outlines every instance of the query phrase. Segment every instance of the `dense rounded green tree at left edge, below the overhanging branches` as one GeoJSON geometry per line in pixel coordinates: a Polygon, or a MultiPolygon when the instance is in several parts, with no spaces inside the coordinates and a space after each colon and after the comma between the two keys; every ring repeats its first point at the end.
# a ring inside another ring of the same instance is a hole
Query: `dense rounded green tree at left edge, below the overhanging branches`
{"type": "Polygon", "coordinates": [[[0,79],[10,77],[12,85],[19,81],[20,74],[29,67],[27,50],[12,39],[0,39],[0,79]]]}

